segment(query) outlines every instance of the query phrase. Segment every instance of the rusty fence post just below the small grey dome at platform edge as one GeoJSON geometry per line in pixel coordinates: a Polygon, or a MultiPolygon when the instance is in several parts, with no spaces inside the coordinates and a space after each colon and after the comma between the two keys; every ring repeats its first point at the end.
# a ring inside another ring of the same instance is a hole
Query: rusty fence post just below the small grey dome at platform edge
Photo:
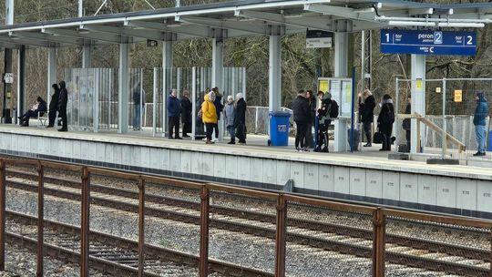
{"type": "Polygon", "coordinates": [[[275,233],[275,276],[285,276],[285,236],[287,233],[287,201],[283,194],[277,199],[277,231],[275,233]]]}

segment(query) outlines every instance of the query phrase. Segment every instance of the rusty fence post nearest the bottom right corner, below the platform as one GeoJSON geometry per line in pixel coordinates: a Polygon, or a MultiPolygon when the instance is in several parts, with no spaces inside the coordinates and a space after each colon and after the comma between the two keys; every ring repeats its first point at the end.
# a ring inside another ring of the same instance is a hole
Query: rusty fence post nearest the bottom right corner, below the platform
{"type": "Polygon", "coordinates": [[[373,227],[373,277],[384,277],[386,216],[381,208],[374,210],[373,227]]]}

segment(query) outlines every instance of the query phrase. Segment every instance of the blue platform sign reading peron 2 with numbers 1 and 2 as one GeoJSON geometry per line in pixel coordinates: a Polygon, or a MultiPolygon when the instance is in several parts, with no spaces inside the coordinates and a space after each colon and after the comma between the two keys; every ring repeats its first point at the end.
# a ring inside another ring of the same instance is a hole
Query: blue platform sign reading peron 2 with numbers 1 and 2
{"type": "Polygon", "coordinates": [[[477,33],[464,31],[381,30],[381,53],[475,56],[477,33]]]}

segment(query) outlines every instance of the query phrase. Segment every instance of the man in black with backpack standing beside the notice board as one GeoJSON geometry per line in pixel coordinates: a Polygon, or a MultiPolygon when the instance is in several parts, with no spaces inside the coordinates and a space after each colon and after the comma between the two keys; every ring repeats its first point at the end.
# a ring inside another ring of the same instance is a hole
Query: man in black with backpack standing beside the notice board
{"type": "Polygon", "coordinates": [[[328,153],[328,143],[330,141],[328,127],[332,123],[332,118],[338,118],[339,107],[338,103],[332,99],[332,94],[328,91],[326,93],[318,91],[318,98],[322,101],[322,104],[318,109],[318,146],[314,149],[314,152],[328,153]]]}

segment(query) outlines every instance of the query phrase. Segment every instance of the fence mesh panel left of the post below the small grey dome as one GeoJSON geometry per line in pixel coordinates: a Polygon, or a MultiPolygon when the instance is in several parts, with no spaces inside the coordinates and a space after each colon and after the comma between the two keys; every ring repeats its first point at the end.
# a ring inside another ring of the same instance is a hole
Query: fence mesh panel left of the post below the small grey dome
{"type": "Polygon", "coordinates": [[[211,259],[273,272],[276,200],[210,190],[211,259]]]}

